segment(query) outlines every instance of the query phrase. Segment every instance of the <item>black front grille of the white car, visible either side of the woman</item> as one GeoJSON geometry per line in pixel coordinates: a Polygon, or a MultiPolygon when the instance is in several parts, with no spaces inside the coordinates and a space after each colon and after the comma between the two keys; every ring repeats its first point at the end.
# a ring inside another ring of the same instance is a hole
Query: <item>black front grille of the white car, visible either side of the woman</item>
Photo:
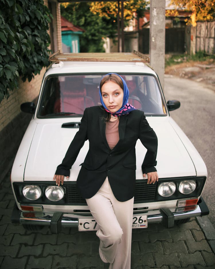
{"type": "MultiPolygon", "coordinates": [[[[64,185],[66,187],[66,195],[68,204],[86,205],[85,199],[77,193],[76,182],[70,182],[64,185]]],[[[134,203],[154,202],[156,196],[157,182],[148,184],[146,180],[137,180],[134,194],[134,203]]]]}

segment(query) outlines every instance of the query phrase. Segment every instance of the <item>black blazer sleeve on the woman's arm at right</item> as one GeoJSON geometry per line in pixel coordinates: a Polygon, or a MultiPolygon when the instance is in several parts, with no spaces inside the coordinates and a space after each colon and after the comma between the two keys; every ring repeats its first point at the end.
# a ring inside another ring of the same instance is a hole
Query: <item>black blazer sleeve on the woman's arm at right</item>
{"type": "Polygon", "coordinates": [[[144,113],[142,114],[140,121],[139,139],[143,146],[147,149],[142,163],[142,173],[145,174],[157,171],[155,168],[157,165],[157,136],[155,131],[149,126],[144,113]]]}

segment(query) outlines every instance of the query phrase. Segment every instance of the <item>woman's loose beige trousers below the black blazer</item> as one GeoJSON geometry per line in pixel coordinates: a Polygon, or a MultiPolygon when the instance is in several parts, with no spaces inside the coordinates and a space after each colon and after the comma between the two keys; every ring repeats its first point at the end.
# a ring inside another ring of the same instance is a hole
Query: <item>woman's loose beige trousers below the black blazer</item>
{"type": "Polygon", "coordinates": [[[99,191],[86,201],[100,226],[96,235],[109,269],[130,269],[134,198],[119,202],[106,178],[99,191]]]}

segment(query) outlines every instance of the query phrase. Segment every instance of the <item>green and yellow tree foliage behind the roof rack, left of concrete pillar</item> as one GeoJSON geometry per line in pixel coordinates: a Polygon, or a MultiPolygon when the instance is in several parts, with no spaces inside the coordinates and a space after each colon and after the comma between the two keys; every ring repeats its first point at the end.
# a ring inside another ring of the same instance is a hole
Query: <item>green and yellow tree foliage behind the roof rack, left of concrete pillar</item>
{"type": "MultiPolygon", "coordinates": [[[[121,3],[121,2],[120,2],[121,3]]],[[[120,4],[121,5],[121,4],[120,4]]],[[[143,16],[146,2],[131,0],[124,2],[125,25],[133,13],[143,16]]],[[[81,52],[103,52],[103,38],[115,38],[117,32],[117,2],[76,2],[61,4],[61,15],[85,30],[80,36],[81,52]]],[[[121,17],[121,14],[120,14],[121,17]]]]}

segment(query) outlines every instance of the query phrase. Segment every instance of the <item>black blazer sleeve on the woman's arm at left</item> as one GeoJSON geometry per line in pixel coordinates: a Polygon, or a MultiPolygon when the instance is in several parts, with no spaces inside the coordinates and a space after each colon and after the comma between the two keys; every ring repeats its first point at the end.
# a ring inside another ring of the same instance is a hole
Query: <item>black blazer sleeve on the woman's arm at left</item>
{"type": "Polygon", "coordinates": [[[83,147],[84,142],[86,140],[87,140],[87,109],[85,109],[83,113],[79,131],[77,131],[75,137],[73,138],[71,144],[69,145],[69,148],[67,150],[64,159],[62,160],[62,163],[58,165],[55,175],[64,175],[64,176],[70,175],[70,169],[74,164],[79,154],[79,151],[83,147]]]}

